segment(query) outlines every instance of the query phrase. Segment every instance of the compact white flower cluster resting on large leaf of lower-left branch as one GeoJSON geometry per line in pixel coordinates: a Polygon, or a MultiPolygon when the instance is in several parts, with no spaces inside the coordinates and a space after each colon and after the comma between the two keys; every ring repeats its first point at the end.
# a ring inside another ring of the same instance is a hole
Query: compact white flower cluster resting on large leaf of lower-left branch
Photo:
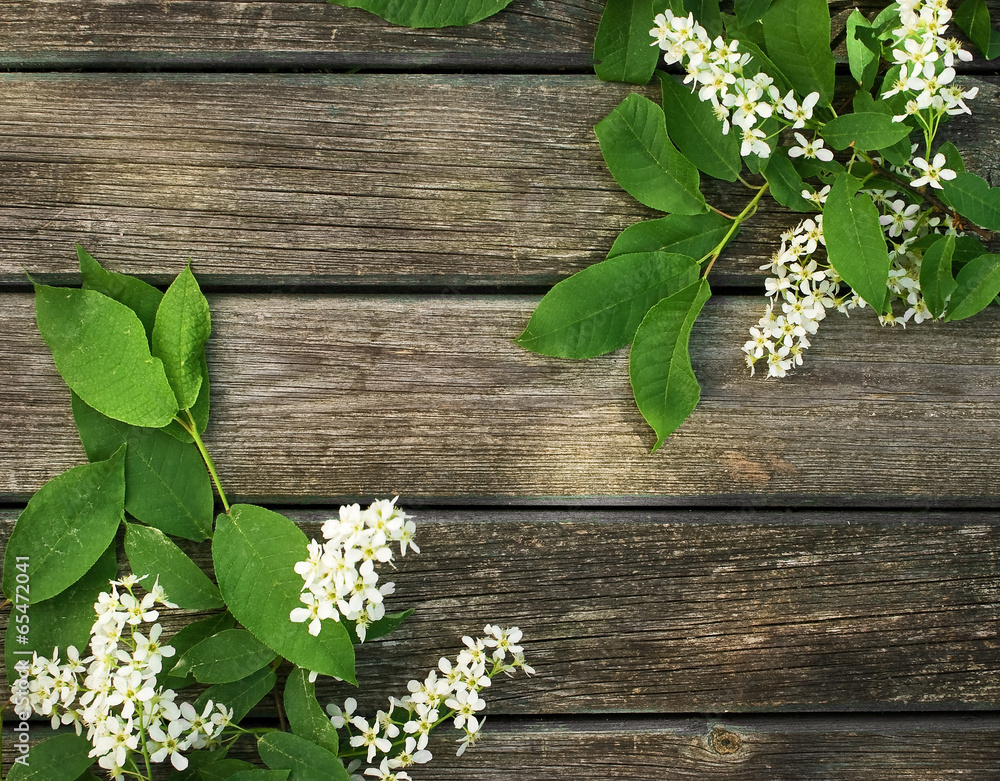
{"type": "Polygon", "coordinates": [[[305,607],[295,608],[291,620],[308,621],[310,634],[318,635],[324,620],[343,617],[355,622],[364,642],[368,626],[385,615],[383,598],[395,590],[392,583],[378,585],[375,566],[392,563],[394,542],[400,556],[407,548],[420,553],[413,541],[416,525],[407,518],[396,499],[376,501],[367,510],[357,504],[341,507],[339,518],[323,524],[326,542],[311,540],[309,556],[295,565],[305,607]]]}

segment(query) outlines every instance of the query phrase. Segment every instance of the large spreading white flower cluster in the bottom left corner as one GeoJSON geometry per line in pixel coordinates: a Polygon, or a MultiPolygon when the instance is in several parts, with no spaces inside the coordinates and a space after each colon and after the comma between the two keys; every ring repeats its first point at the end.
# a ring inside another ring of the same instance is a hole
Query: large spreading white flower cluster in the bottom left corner
{"type": "Polygon", "coordinates": [[[116,781],[138,776],[135,754],[152,762],[170,763],[183,770],[181,753],[213,745],[229,725],[232,711],[211,700],[199,713],[190,703],[175,702],[176,693],[157,685],[163,659],[173,647],[160,641],[163,627],[156,605],[176,607],[157,581],[141,598],[134,593],[137,579],[111,581],[94,605],[97,620],[90,630],[91,656],[85,659],[73,646],[61,662],[59,649],[47,659],[35,654],[28,666],[28,696],[18,715],[33,711],[49,716],[53,728],[73,724],[77,734],[87,729],[94,748],[90,756],[116,781]],[[122,591],[118,589],[121,588],[122,591]],[[152,623],[148,634],[143,624],[152,623]]]}

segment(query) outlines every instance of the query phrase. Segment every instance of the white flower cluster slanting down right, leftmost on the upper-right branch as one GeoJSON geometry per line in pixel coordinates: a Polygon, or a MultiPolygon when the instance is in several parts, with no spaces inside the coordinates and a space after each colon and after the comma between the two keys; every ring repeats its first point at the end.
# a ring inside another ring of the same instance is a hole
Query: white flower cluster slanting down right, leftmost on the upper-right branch
{"type": "MultiPolygon", "coordinates": [[[[668,9],[657,14],[653,21],[656,27],[649,34],[656,39],[653,45],[665,52],[664,62],[684,66],[684,83],[692,84],[698,90],[698,97],[712,104],[724,134],[729,133],[730,124],[739,129],[740,154],[744,157],[770,156],[768,140],[776,130],[766,132],[762,127],[766,120],[773,118],[792,128],[804,128],[812,120],[819,93],[810,93],[800,103],[791,90],[782,97],[774,79],[766,73],[744,75],[744,68],[753,58],[739,51],[738,40],[727,42],[720,36],[713,41],[693,14],[677,16],[668,9]]],[[[793,157],[833,159],[822,139],[807,140],[801,133],[795,135],[799,146],[789,152],[793,157]]]]}

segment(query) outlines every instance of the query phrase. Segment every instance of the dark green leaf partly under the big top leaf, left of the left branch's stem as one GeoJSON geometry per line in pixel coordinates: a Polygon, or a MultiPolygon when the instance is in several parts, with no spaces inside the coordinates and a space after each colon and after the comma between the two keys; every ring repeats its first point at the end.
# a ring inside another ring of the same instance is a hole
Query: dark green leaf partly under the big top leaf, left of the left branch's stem
{"type": "Polygon", "coordinates": [[[212,534],[215,499],[205,463],[193,444],[162,431],[113,420],[74,394],[73,418],[87,458],[125,451],[125,509],[143,523],[188,540],[212,534]]]}

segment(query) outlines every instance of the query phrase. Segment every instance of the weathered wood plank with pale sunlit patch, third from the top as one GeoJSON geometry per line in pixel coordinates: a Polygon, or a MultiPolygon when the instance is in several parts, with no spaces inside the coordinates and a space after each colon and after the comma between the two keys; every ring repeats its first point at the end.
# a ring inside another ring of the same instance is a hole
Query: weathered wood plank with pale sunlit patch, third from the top
{"type": "MultiPolygon", "coordinates": [[[[763,298],[720,298],[692,338],[702,404],[656,454],[627,355],[512,339],[535,297],[213,297],[208,442],[255,501],[995,506],[1000,312],[883,329],[832,315],[807,362],[751,378],[763,298]]],[[[28,294],[0,297],[0,496],[83,457],[28,294]]]]}

